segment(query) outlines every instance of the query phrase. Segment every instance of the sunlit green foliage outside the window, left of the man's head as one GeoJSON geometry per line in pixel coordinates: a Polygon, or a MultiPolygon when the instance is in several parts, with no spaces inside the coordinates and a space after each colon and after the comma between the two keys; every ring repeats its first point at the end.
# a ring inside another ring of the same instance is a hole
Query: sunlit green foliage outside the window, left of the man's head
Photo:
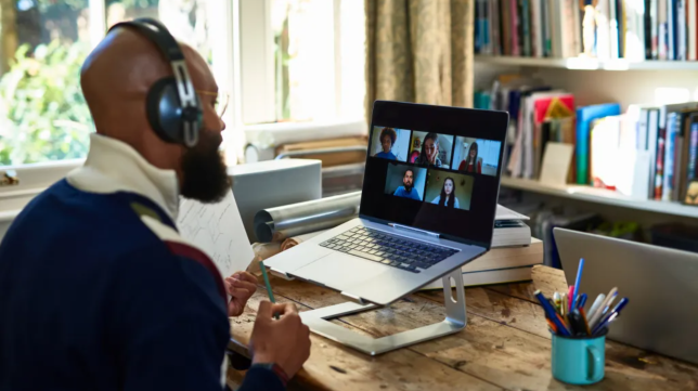
{"type": "Polygon", "coordinates": [[[92,118],[80,90],[86,42],[17,49],[0,79],[0,166],[81,158],[92,118]]]}

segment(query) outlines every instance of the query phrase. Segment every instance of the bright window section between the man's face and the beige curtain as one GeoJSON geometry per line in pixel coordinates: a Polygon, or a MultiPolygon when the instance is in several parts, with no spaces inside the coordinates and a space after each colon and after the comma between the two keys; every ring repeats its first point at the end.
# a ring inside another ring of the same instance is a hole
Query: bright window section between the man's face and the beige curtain
{"type": "Polygon", "coordinates": [[[244,123],[363,117],[363,1],[243,0],[242,14],[244,123]]]}

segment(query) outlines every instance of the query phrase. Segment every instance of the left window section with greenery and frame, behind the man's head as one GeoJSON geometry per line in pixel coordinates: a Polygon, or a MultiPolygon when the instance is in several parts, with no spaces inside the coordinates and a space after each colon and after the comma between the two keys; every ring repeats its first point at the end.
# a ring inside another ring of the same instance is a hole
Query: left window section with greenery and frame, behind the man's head
{"type": "Polygon", "coordinates": [[[83,157],[92,127],[77,75],[90,51],[87,1],[0,6],[0,166],[83,157]]]}

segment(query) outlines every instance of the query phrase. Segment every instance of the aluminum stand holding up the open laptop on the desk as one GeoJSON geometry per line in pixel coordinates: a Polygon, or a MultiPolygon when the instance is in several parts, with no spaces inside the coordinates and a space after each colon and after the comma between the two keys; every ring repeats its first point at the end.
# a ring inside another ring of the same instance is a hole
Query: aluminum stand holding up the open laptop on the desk
{"type": "Polygon", "coordinates": [[[379,305],[376,304],[359,304],[354,302],[346,302],[313,311],[306,311],[300,313],[300,317],[313,333],[332,339],[333,341],[337,341],[371,355],[386,353],[391,350],[454,334],[465,328],[467,314],[465,312],[465,288],[463,287],[463,274],[461,272],[461,268],[457,268],[455,271],[451,272],[451,274],[442,276],[441,279],[443,281],[445,320],[432,325],[414,328],[382,338],[372,338],[329,322],[336,317],[379,308],[379,305]],[[455,284],[455,298],[451,291],[451,278],[453,278],[455,284]]]}

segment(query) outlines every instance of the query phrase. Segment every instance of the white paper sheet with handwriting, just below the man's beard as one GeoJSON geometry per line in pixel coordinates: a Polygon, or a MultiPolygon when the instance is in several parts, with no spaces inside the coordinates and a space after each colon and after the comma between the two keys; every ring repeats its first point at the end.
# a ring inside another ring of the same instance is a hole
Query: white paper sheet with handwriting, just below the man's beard
{"type": "Polygon", "coordinates": [[[182,237],[208,255],[223,278],[246,270],[255,258],[232,191],[218,204],[182,198],[177,225],[182,237]]]}

